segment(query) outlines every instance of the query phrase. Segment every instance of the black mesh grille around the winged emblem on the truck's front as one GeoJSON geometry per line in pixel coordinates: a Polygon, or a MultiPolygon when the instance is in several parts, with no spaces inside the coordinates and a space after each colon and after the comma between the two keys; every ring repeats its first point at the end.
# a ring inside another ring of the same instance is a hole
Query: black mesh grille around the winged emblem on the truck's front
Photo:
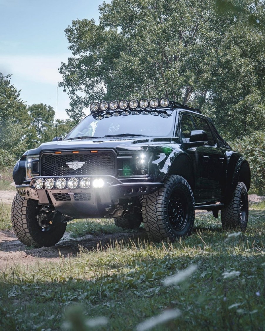
{"type": "Polygon", "coordinates": [[[115,155],[112,152],[88,154],[44,154],[41,157],[41,176],[115,175],[115,155]],[[84,162],[74,170],[66,163],[84,162]]]}

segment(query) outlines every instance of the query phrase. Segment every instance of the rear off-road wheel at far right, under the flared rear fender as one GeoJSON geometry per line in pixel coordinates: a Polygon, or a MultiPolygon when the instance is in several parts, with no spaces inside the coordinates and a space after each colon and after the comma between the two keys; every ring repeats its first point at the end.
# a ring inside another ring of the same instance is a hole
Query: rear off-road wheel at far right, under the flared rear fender
{"type": "Polygon", "coordinates": [[[221,220],[224,230],[238,229],[244,231],[248,221],[248,195],[244,183],[238,185],[231,201],[221,210],[221,220]]]}

